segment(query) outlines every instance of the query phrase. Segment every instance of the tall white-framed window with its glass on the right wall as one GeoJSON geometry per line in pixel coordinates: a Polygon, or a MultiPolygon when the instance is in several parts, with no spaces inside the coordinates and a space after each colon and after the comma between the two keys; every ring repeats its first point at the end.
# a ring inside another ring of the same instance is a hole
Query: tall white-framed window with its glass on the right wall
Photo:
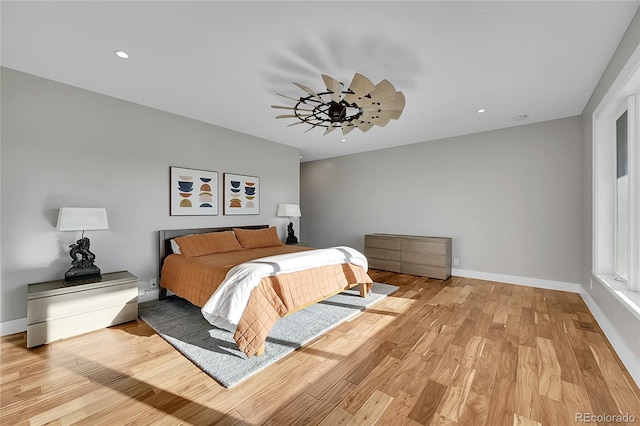
{"type": "Polygon", "coordinates": [[[640,290],[638,99],[640,48],[593,114],[593,274],[616,291],[640,290]]]}

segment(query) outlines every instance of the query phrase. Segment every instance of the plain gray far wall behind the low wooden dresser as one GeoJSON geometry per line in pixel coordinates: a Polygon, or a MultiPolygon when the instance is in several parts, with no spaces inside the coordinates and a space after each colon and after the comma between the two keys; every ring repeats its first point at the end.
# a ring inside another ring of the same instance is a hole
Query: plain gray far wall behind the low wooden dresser
{"type": "Polygon", "coordinates": [[[303,163],[302,234],[453,238],[459,268],[580,282],[580,117],[303,163]]]}

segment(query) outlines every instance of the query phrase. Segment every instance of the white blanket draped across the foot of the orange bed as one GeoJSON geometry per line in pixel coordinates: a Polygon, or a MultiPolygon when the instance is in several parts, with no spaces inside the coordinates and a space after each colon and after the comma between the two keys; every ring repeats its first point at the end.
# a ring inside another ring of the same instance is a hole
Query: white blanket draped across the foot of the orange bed
{"type": "Polygon", "coordinates": [[[241,263],[229,270],[224,281],[202,307],[202,315],[216,327],[235,332],[251,291],[263,277],[304,269],[352,263],[368,269],[367,258],[346,246],[268,256],[241,263]]]}

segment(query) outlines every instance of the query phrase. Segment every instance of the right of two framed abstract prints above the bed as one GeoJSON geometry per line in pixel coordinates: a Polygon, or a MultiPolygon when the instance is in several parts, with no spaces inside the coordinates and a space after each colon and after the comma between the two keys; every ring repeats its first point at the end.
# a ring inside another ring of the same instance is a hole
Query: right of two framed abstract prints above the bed
{"type": "Polygon", "coordinates": [[[260,214],[260,178],[224,174],[224,214],[260,214]]]}

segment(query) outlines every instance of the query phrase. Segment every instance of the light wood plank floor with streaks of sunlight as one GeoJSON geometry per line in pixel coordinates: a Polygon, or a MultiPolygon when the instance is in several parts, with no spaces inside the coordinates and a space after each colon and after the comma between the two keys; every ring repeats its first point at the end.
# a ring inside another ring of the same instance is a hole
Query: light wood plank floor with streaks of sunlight
{"type": "Polygon", "coordinates": [[[0,423],[640,424],[640,392],[579,295],[371,276],[400,291],[231,390],[142,321],[33,350],[5,336],[0,423]]]}

